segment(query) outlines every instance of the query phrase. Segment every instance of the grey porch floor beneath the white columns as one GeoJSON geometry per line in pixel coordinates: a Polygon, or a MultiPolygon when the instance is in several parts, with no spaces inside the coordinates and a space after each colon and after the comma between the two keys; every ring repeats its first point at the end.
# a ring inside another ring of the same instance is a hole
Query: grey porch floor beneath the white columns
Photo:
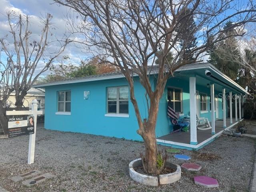
{"type": "MultiPolygon", "coordinates": [[[[234,125],[237,121],[233,118],[233,123],[230,124],[230,118],[226,119],[226,126],[227,128],[231,125],[234,125]]],[[[239,119],[238,119],[239,121],[239,119]]],[[[223,120],[216,120],[215,121],[215,134],[224,130],[223,128],[223,120]]],[[[212,137],[212,129],[209,130],[197,130],[197,142],[200,144],[201,142],[207,140],[208,138],[212,137]]],[[[172,141],[172,142],[179,142],[190,144],[190,132],[174,132],[172,134],[164,135],[158,137],[157,139],[172,141]]]]}

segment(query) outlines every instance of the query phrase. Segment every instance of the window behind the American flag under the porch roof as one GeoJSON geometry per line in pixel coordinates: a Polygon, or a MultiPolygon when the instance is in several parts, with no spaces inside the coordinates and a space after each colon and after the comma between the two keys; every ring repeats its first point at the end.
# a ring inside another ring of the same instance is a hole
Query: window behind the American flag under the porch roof
{"type": "Polygon", "coordinates": [[[168,88],[168,101],[173,103],[176,113],[182,113],[182,91],[178,88],[168,88]]]}

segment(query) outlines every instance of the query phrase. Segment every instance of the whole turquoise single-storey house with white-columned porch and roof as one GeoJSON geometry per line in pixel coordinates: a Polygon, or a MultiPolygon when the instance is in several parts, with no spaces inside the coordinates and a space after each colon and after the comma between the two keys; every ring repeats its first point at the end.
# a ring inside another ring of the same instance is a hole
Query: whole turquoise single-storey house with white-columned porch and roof
{"type": "MultiPolygon", "coordinates": [[[[242,120],[243,97],[248,92],[214,66],[190,64],[174,74],[160,100],[156,125],[159,144],[199,149],[242,120]],[[190,122],[188,132],[173,132],[167,116],[168,100],[180,118],[190,122]],[[210,127],[206,124],[204,128],[206,122],[210,122],[210,127]]],[[[156,75],[150,76],[152,87],[156,84],[156,75]]],[[[46,129],[142,140],[136,133],[138,123],[129,99],[128,83],[121,72],[34,87],[45,89],[46,129]]],[[[134,87],[142,118],[147,118],[145,90],[136,77],[134,87]]]]}

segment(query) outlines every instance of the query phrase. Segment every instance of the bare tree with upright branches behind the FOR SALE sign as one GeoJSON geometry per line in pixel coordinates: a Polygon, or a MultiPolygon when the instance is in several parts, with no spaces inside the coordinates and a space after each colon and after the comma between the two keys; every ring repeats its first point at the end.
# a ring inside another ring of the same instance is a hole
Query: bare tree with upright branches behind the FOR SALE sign
{"type": "MultiPolygon", "coordinates": [[[[13,91],[16,97],[15,105],[18,108],[22,107],[24,96],[38,76],[48,70],[50,64],[62,54],[70,42],[67,38],[58,41],[50,40],[53,36],[50,32],[51,14],[46,14],[45,18],[40,20],[41,26],[33,26],[33,28],[28,15],[7,11],[6,16],[11,35],[0,38],[0,46],[6,56],[6,61],[0,62],[2,73],[0,110],[3,110],[4,103],[13,91]],[[41,29],[41,34],[36,36],[32,34],[31,28],[35,30],[38,27],[41,29]],[[53,53],[49,52],[48,47],[56,43],[58,48],[53,53]],[[47,51],[49,55],[46,54],[47,51]]],[[[6,127],[2,112],[0,112],[0,120],[6,127]]]]}

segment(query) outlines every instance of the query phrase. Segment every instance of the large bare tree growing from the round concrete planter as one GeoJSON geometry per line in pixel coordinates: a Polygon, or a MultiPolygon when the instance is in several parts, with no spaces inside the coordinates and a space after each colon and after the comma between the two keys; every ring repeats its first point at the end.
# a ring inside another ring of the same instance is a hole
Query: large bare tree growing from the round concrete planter
{"type": "Polygon", "coordinates": [[[163,162],[164,158],[157,150],[155,127],[159,101],[168,78],[181,66],[200,62],[208,47],[220,40],[217,36],[228,30],[223,29],[227,20],[234,21],[232,27],[256,21],[256,4],[252,1],[247,4],[241,4],[239,0],[54,1],[74,11],[68,15],[68,23],[70,31],[82,38],[77,42],[87,51],[109,58],[108,62],[117,65],[126,77],[138,120],[137,132],[145,144],[144,167],[152,174],[159,174],[163,169],[157,164],[159,158],[163,162]],[[195,26],[191,31],[193,34],[188,36],[194,35],[200,43],[187,50],[194,39],[181,43],[179,40],[184,32],[178,29],[186,29],[182,24],[192,18],[195,26]],[[171,62],[166,60],[170,51],[171,62]],[[158,67],[154,72],[158,75],[156,85],[152,87],[150,74],[155,57],[158,67]],[[148,117],[145,119],[142,119],[135,97],[135,76],[140,79],[149,98],[148,117]]]}

